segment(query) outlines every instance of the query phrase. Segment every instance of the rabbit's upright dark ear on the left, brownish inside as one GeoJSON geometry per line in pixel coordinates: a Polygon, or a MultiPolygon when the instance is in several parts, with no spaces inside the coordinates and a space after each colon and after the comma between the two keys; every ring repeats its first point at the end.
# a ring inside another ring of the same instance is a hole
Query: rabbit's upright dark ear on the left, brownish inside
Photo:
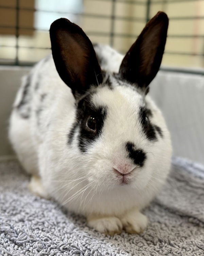
{"type": "Polygon", "coordinates": [[[57,72],[75,98],[102,82],[93,45],[79,26],[65,18],[57,19],[50,26],[50,40],[57,72]]]}

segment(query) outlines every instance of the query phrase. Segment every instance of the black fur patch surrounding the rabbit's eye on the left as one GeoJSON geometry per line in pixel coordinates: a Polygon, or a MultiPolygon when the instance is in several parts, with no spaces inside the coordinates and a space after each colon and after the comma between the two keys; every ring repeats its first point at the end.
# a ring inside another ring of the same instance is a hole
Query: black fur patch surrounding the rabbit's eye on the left
{"type": "Polygon", "coordinates": [[[93,143],[102,132],[104,120],[107,116],[107,109],[105,106],[96,107],[91,104],[92,95],[88,95],[79,101],[77,104],[77,116],[76,121],[68,135],[68,144],[72,143],[73,136],[76,128],[79,126],[79,148],[80,151],[85,153],[88,149],[88,145],[93,143]],[[87,120],[90,116],[94,116],[97,119],[96,131],[91,131],[87,128],[87,120]]]}

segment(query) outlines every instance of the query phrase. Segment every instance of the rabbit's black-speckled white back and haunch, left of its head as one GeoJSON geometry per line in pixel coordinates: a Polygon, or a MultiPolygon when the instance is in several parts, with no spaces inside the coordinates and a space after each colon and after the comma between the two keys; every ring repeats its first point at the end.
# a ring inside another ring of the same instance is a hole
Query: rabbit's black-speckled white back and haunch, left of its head
{"type": "Polygon", "coordinates": [[[71,91],[60,79],[51,55],[23,77],[10,118],[9,139],[24,169],[38,173],[39,145],[49,131],[53,108],[63,93],[71,91]]]}

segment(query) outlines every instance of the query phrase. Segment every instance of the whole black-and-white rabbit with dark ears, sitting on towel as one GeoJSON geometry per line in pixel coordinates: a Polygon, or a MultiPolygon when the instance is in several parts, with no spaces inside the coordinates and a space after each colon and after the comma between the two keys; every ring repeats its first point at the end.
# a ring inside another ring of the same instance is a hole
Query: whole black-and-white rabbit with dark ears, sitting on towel
{"type": "Polygon", "coordinates": [[[141,211],[170,170],[170,133],[148,95],[167,29],[158,12],[123,56],[57,19],[52,55],[23,78],[13,105],[9,138],[30,189],[105,234],[145,230],[141,211]]]}

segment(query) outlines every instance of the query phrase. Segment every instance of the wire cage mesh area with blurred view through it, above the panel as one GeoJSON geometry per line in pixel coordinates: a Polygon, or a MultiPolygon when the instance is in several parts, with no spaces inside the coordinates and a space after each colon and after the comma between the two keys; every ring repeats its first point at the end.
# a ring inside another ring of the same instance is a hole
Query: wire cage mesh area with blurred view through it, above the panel
{"type": "Polygon", "coordinates": [[[170,19],[163,65],[202,68],[204,0],[1,0],[0,63],[30,66],[48,55],[49,25],[59,17],[124,53],[158,10],[170,19]]]}

